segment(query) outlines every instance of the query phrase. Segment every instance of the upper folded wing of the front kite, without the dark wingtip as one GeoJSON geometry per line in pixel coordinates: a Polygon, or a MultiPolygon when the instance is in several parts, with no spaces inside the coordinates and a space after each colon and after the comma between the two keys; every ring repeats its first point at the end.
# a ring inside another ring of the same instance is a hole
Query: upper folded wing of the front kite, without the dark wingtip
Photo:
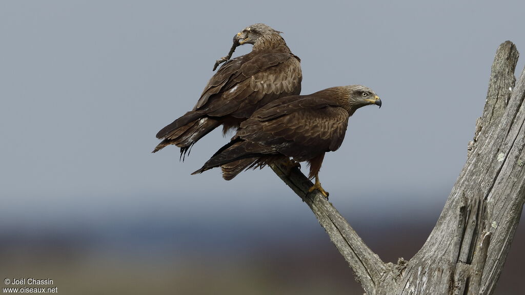
{"type": "Polygon", "coordinates": [[[299,161],[341,146],[348,111],[328,98],[288,97],[288,102],[258,110],[241,123],[237,137],[245,141],[274,148],[276,152],[292,156],[299,161]]]}

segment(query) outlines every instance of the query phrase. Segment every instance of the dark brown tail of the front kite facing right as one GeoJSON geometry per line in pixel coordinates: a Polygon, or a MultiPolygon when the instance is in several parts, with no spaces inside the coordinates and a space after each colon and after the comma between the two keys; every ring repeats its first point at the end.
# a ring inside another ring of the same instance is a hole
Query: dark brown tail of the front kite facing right
{"type": "Polygon", "coordinates": [[[260,157],[269,154],[269,146],[235,139],[220,148],[199,170],[192,173],[203,173],[211,168],[222,166],[223,178],[231,180],[241,171],[259,165],[260,157]]]}

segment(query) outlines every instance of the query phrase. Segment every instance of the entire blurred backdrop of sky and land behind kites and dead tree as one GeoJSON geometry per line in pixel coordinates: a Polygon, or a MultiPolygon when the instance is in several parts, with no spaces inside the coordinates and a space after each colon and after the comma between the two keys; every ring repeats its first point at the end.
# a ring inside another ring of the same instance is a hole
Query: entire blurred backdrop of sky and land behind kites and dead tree
{"type": "MultiPolygon", "coordinates": [[[[497,47],[525,52],[523,8],[0,2],[0,276],[50,278],[61,294],[361,294],[269,168],[192,176],[228,138],[216,130],[182,163],[174,147],[150,153],[156,132],[193,107],[234,34],[283,31],[302,93],[360,83],[381,97],[350,119],[320,177],[384,261],[409,259],[465,163],[497,47]]],[[[524,247],[521,222],[497,294],[525,292],[524,247]]]]}

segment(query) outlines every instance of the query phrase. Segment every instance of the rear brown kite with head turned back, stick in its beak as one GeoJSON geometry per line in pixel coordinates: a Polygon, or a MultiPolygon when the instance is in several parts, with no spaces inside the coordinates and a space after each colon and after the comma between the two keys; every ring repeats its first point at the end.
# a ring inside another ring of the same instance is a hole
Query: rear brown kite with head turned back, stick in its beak
{"type": "Polygon", "coordinates": [[[162,142],[153,152],[175,144],[181,148],[182,157],[195,142],[220,125],[226,134],[265,104],[299,94],[300,59],[292,54],[280,33],[267,25],[255,24],[235,35],[229,56],[243,44],[253,44],[251,52],[230,59],[219,68],[193,110],[157,133],[162,142]]]}

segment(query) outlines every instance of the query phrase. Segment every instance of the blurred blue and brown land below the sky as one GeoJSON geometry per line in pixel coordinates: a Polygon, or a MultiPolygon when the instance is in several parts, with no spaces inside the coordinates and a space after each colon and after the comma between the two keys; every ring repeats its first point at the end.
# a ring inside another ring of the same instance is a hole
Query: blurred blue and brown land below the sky
{"type": "MultiPolygon", "coordinates": [[[[2,273],[6,278],[50,278],[53,287],[66,294],[90,294],[93,288],[127,294],[362,292],[310,209],[291,191],[290,195],[303,214],[271,216],[266,223],[194,219],[151,226],[136,220],[124,227],[115,220],[104,228],[70,224],[68,229],[2,230],[2,273]]],[[[336,207],[346,216],[348,207],[336,207]]],[[[367,220],[346,218],[383,261],[395,264],[423,245],[439,213],[434,208],[428,218],[406,216],[390,222],[378,222],[373,215],[367,220]]],[[[522,278],[523,247],[521,222],[496,294],[523,292],[515,283],[522,278]]]]}

